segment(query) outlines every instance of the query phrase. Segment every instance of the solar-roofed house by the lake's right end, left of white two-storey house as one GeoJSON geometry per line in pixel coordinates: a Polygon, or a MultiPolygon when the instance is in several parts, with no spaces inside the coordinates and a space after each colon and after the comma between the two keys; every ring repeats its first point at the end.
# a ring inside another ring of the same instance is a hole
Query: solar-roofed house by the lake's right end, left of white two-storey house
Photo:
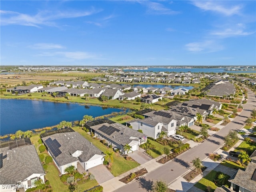
{"type": "Polygon", "coordinates": [[[108,145],[120,149],[123,154],[127,154],[127,151],[124,151],[126,144],[132,147],[128,152],[130,153],[138,150],[139,146],[147,141],[145,134],[106,119],[88,122],[85,126],[90,127],[99,139],[107,140],[108,145]]]}

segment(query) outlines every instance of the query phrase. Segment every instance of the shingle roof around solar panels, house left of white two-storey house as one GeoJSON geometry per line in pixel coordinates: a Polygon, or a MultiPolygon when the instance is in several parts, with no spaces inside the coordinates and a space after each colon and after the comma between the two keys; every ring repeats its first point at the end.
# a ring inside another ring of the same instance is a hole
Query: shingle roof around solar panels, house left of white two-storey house
{"type": "Polygon", "coordinates": [[[95,130],[96,132],[106,136],[107,138],[109,138],[110,140],[124,146],[125,144],[129,144],[130,142],[132,142],[135,139],[130,139],[130,137],[136,137],[136,138],[143,138],[146,137],[145,134],[140,133],[136,130],[133,130],[127,126],[124,126],[120,123],[113,123],[113,124],[108,124],[108,123],[103,123],[100,125],[96,125],[96,126],[91,126],[91,128],[93,130],[95,130]],[[116,129],[119,130],[119,132],[113,132],[112,134],[108,135],[102,131],[99,130],[99,128],[101,128],[102,126],[112,126],[116,129]]]}

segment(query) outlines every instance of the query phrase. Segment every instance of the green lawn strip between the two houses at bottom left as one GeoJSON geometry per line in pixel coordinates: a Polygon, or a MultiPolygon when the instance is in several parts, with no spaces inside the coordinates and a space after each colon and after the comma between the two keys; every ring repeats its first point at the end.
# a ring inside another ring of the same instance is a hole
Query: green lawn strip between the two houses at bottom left
{"type": "Polygon", "coordinates": [[[52,164],[48,165],[46,179],[52,186],[52,191],[63,192],[68,191],[68,186],[61,182],[57,168],[52,164]]]}

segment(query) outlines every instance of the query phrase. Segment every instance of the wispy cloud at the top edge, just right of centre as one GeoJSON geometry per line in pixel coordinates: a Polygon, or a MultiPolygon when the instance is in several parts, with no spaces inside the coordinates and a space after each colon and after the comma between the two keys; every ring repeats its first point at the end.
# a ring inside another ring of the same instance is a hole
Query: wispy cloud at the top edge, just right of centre
{"type": "Polygon", "coordinates": [[[178,11],[173,11],[170,8],[166,8],[163,4],[150,1],[139,1],[140,4],[143,4],[147,7],[148,14],[178,14],[178,11]]]}

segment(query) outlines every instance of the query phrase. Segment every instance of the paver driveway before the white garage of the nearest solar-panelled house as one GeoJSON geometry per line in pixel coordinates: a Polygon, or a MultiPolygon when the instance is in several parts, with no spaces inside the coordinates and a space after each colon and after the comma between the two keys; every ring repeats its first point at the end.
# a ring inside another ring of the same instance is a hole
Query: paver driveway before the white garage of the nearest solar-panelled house
{"type": "Polygon", "coordinates": [[[95,179],[99,184],[114,178],[114,176],[104,165],[95,166],[88,169],[88,171],[95,176],[95,179]]]}

